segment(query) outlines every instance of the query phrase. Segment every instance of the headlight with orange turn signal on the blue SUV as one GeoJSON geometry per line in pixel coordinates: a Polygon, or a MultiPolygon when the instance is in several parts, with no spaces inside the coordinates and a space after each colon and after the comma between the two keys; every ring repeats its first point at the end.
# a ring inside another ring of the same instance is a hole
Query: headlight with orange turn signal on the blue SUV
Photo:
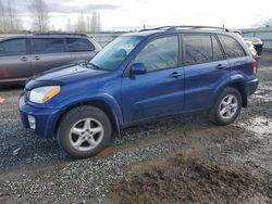
{"type": "Polygon", "coordinates": [[[60,86],[48,86],[35,88],[30,91],[29,101],[34,103],[46,103],[61,91],[60,86]]]}

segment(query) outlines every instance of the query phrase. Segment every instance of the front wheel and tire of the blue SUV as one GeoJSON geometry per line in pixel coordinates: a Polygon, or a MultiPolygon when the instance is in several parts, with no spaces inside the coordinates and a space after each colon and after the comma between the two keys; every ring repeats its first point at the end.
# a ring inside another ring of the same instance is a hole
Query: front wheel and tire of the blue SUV
{"type": "Polygon", "coordinates": [[[104,112],[95,106],[78,106],[63,116],[57,137],[71,157],[85,158],[101,152],[111,135],[111,122],[104,112]]]}

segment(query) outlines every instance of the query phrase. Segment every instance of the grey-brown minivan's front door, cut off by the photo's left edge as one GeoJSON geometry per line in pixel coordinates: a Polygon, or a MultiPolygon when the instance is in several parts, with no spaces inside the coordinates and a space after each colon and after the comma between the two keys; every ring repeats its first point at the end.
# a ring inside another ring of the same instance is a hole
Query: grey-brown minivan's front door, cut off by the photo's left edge
{"type": "Polygon", "coordinates": [[[33,75],[25,38],[0,42],[0,80],[26,80],[33,75]]]}

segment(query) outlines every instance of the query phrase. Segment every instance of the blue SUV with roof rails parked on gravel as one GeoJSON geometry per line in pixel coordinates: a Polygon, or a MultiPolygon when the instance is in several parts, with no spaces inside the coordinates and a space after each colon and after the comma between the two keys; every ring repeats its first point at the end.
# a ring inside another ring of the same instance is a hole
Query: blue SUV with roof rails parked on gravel
{"type": "Polygon", "coordinates": [[[45,72],[20,99],[22,122],[57,137],[71,156],[99,153],[120,129],[180,113],[233,123],[258,86],[257,62],[240,36],[205,26],[126,34],[86,64],[45,72]]]}

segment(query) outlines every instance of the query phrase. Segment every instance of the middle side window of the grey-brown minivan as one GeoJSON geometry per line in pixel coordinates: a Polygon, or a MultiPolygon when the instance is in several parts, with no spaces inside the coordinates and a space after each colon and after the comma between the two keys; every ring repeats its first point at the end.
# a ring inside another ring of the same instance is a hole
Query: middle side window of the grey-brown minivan
{"type": "Polygon", "coordinates": [[[32,52],[34,54],[64,52],[62,38],[36,38],[32,39],[32,52]]]}

